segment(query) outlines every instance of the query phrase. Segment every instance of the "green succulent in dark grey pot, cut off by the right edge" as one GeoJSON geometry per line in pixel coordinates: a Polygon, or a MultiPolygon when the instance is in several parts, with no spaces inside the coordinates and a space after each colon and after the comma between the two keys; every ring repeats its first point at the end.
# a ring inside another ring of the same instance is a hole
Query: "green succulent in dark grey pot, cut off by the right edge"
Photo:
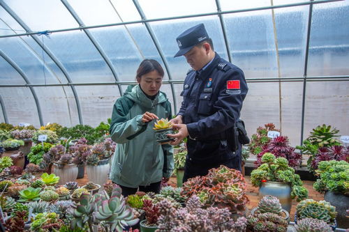
{"type": "Polygon", "coordinates": [[[336,207],[339,228],[349,228],[346,210],[349,208],[349,163],[341,160],[322,161],[315,171],[320,178],[313,187],[325,192],[325,201],[336,207]]]}

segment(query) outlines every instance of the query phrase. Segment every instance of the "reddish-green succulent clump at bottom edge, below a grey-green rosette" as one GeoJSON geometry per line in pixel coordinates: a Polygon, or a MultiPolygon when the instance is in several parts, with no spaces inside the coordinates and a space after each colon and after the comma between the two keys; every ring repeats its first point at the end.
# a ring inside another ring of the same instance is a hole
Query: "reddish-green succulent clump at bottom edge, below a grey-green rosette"
{"type": "Polygon", "coordinates": [[[272,212],[265,212],[247,217],[247,227],[251,231],[285,232],[288,222],[272,212]]]}

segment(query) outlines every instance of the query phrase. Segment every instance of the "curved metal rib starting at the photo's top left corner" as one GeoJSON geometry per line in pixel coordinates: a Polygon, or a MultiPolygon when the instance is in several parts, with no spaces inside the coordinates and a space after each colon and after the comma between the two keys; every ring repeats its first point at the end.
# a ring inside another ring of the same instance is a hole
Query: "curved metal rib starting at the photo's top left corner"
{"type": "MultiPolygon", "coordinates": [[[[18,17],[18,15],[9,7],[7,6],[6,3],[4,3],[3,1],[0,1],[0,6],[2,6],[8,14],[10,14],[18,24],[20,24],[20,26],[22,26],[22,28],[25,31],[31,31],[31,29],[29,29],[29,26],[27,26],[27,24],[25,24],[20,17],[18,17]]],[[[71,79],[70,79],[70,75],[68,74],[66,68],[64,68],[64,66],[61,64],[61,62],[59,62],[59,60],[57,59],[56,56],[54,56],[54,54],[50,51],[50,49],[48,47],[46,47],[45,45],[43,45],[40,40],[37,38],[37,36],[34,36],[34,34],[29,35],[31,36],[31,38],[34,39],[34,41],[45,51],[45,53],[50,56],[50,58],[52,59],[52,61],[57,65],[57,67],[61,70],[61,72],[63,72],[64,76],[66,77],[67,81],[69,84],[72,83],[71,79]]],[[[75,98],[75,104],[77,107],[77,115],[79,116],[79,123],[80,124],[84,124],[84,122],[82,121],[82,114],[81,114],[81,106],[80,106],[80,100],[79,97],[77,95],[77,91],[75,89],[75,86],[71,85],[70,86],[71,90],[73,91],[73,95],[75,98]]],[[[68,106],[69,107],[69,106],[68,106]]]]}

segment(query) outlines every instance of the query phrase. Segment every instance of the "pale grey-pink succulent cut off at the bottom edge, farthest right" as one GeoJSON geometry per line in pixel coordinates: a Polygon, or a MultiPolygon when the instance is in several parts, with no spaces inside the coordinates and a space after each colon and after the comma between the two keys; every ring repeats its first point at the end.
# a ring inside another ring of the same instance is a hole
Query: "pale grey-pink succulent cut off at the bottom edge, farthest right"
{"type": "Polygon", "coordinates": [[[331,232],[332,228],[326,222],[315,218],[304,218],[295,225],[297,232],[331,232]]]}

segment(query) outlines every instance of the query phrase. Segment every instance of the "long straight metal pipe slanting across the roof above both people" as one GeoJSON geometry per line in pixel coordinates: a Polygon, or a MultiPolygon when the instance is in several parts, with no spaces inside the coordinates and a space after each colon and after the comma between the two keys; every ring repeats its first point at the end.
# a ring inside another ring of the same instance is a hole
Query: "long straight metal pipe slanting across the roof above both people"
{"type": "MultiPolygon", "coordinates": [[[[136,20],[136,21],[130,21],[130,22],[118,22],[118,23],[114,23],[114,24],[100,24],[100,25],[93,25],[93,26],[80,26],[80,27],[69,28],[69,29],[47,30],[47,33],[56,33],[56,32],[63,32],[63,31],[81,31],[82,29],[94,29],[94,28],[107,27],[107,26],[120,26],[120,25],[126,25],[126,24],[142,24],[145,22],[179,20],[179,19],[186,19],[186,18],[190,18],[190,17],[205,17],[205,16],[211,16],[211,15],[225,15],[225,14],[232,14],[232,13],[258,11],[258,10],[288,8],[288,7],[294,7],[294,6],[308,6],[308,5],[320,4],[320,3],[330,3],[330,2],[334,2],[334,1],[343,1],[343,0],[304,1],[304,2],[299,2],[299,3],[290,3],[290,4],[275,5],[275,6],[262,6],[262,7],[258,7],[258,8],[248,8],[248,9],[242,9],[242,10],[225,10],[225,11],[221,11],[221,12],[202,13],[202,14],[195,14],[195,15],[182,15],[182,16],[176,16],[176,17],[163,17],[163,18],[156,18],[156,19],[151,19],[151,20],[136,20]]],[[[0,3],[1,2],[2,1],[0,0],[0,3]]],[[[0,38],[17,37],[17,36],[30,36],[30,35],[36,35],[38,33],[40,33],[40,32],[31,31],[31,32],[27,32],[27,33],[17,33],[17,34],[12,34],[12,35],[0,36],[0,38]]]]}

